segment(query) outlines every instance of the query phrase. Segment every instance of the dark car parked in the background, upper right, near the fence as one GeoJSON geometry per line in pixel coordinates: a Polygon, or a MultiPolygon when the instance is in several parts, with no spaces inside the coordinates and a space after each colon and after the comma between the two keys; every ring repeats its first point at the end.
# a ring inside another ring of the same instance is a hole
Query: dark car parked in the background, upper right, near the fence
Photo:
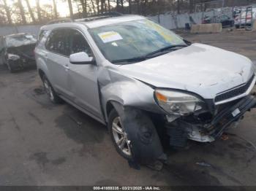
{"type": "Polygon", "coordinates": [[[222,23],[222,27],[233,27],[234,26],[234,20],[227,15],[219,15],[219,16],[214,16],[214,17],[204,17],[203,19],[203,24],[208,24],[208,23],[222,23]]]}

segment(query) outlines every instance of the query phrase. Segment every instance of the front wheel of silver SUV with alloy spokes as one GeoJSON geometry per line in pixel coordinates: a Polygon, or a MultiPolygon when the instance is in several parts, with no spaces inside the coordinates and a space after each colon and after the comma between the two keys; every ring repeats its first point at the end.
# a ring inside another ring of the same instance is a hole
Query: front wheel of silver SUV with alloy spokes
{"type": "Polygon", "coordinates": [[[127,139],[127,133],[121,124],[121,117],[119,117],[115,109],[111,110],[108,117],[108,131],[119,155],[127,160],[131,160],[131,145],[127,139]]]}

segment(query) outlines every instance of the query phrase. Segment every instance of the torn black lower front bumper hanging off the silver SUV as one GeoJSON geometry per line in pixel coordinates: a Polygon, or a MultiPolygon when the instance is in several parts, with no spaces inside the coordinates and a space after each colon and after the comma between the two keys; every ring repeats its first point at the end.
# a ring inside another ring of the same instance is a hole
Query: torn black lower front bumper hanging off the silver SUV
{"type": "Polygon", "coordinates": [[[231,106],[225,106],[211,120],[211,122],[187,122],[178,118],[167,124],[167,134],[170,136],[170,145],[184,147],[187,139],[200,142],[211,142],[222,136],[222,133],[244,116],[250,109],[256,107],[255,95],[247,95],[231,106]]]}

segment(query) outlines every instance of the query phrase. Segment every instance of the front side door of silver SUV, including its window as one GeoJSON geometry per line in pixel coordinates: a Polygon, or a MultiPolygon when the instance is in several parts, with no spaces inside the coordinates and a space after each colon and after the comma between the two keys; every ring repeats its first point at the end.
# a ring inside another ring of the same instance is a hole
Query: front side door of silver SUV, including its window
{"type": "MultiPolygon", "coordinates": [[[[89,57],[94,54],[85,36],[77,29],[69,30],[69,54],[86,52],[89,57]]],[[[75,92],[75,102],[96,117],[102,119],[97,85],[97,64],[71,64],[69,69],[69,84],[75,92]]]]}

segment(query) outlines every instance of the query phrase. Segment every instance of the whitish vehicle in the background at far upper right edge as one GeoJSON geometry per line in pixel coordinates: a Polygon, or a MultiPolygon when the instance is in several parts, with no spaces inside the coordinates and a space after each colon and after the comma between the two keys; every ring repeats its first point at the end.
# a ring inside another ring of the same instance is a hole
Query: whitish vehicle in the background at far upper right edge
{"type": "Polygon", "coordinates": [[[235,26],[236,28],[244,28],[245,26],[252,26],[253,20],[256,20],[256,8],[252,8],[252,12],[242,12],[241,15],[236,15],[235,26]]]}

